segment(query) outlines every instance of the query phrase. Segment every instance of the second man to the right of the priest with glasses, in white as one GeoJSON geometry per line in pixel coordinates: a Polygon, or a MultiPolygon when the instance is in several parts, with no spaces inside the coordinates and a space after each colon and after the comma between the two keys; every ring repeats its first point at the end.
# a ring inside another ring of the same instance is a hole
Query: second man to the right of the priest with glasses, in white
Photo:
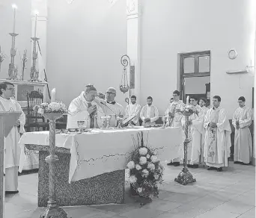
{"type": "Polygon", "coordinates": [[[147,97],[147,105],[141,109],[141,120],[143,121],[142,125],[156,125],[156,120],[159,118],[159,112],[156,106],[152,105],[153,99],[151,96],[147,97]]]}

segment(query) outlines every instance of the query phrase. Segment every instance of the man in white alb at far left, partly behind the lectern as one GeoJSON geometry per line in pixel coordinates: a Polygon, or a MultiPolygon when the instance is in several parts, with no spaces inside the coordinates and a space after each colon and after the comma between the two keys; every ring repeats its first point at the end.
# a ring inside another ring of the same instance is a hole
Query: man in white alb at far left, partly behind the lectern
{"type": "Polygon", "coordinates": [[[18,166],[20,148],[18,146],[20,134],[25,132],[25,113],[16,100],[11,99],[15,94],[14,85],[9,82],[0,84],[0,111],[21,112],[19,120],[11,129],[10,134],[4,138],[4,170],[5,170],[5,193],[19,193],[18,190],[18,166]],[[20,126],[18,131],[18,125],[20,126]]]}

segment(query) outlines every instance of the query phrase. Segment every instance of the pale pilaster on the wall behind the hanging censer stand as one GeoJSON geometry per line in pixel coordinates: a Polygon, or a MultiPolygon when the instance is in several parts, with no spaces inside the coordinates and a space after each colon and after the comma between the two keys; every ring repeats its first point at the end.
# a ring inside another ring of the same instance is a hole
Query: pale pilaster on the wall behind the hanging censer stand
{"type": "MultiPolygon", "coordinates": [[[[127,0],[127,55],[130,58],[131,66],[134,66],[135,80],[134,88],[131,89],[131,96],[137,96],[140,103],[140,5],[141,0],[127,0]]],[[[131,69],[132,69],[131,67],[131,69]]]]}

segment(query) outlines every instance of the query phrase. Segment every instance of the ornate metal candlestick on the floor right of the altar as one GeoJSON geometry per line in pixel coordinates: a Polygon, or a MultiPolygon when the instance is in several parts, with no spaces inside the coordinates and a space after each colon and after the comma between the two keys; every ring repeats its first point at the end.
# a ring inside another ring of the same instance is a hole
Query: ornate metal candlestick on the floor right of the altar
{"type": "Polygon", "coordinates": [[[187,150],[188,150],[188,143],[189,143],[189,116],[190,113],[184,113],[185,116],[185,136],[186,139],[184,140],[184,160],[183,160],[183,169],[177,175],[177,178],[174,179],[174,181],[177,181],[180,184],[186,185],[192,182],[195,182],[195,178],[193,178],[193,175],[189,172],[188,166],[187,166],[187,150]]]}

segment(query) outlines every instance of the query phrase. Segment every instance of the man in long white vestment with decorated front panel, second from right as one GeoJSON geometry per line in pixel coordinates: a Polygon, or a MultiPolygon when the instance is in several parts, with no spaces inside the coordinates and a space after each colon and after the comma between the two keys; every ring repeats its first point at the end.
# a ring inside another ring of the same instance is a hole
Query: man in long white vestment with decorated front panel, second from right
{"type": "Polygon", "coordinates": [[[204,116],[206,128],[204,141],[204,158],[209,168],[222,171],[223,166],[228,166],[231,154],[231,125],[228,122],[227,111],[220,106],[221,97],[213,96],[213,108],[207,110],[204,116]]]}

